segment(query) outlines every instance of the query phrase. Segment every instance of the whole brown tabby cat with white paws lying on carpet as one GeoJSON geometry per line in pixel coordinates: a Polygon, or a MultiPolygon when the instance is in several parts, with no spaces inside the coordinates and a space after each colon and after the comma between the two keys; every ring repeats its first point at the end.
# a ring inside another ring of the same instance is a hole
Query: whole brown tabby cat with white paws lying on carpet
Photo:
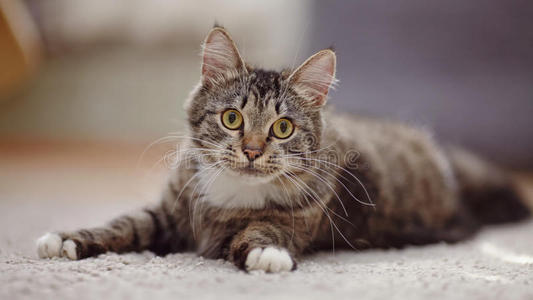
{"type": "Polygon", "coordinates": [[[326,109],[335,70],[332,49],[295,70],[252,67],[215,26],[161,202],[103,227],[47,233],[38,255],[196,251],[282,272],[316,250],[452,243],[530,215],[510,177],[470,152],[326,109]]]}

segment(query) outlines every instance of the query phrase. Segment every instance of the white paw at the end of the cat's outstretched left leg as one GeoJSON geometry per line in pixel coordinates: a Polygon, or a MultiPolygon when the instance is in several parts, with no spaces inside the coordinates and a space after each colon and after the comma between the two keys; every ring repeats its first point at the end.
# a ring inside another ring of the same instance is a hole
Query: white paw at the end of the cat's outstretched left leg
{"type": "Polygon", "coordinates": [[[68,257],[78,259],[76,243],[63,240],[57,233],[47,233],[37,240],[37,254],[40,258],[68,257]]]}

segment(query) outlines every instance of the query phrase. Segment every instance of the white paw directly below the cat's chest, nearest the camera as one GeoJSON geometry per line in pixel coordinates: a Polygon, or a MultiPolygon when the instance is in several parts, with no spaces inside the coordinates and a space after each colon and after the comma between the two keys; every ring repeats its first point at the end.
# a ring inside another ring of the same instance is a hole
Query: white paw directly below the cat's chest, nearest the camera
{"type": "Polygon", "coordinates": [[[255,248],[246,257],[246,270],[263,270],[265,272],[278,273],[292,270],[294,263],[285,249],[267,247],[255,248]]]}

